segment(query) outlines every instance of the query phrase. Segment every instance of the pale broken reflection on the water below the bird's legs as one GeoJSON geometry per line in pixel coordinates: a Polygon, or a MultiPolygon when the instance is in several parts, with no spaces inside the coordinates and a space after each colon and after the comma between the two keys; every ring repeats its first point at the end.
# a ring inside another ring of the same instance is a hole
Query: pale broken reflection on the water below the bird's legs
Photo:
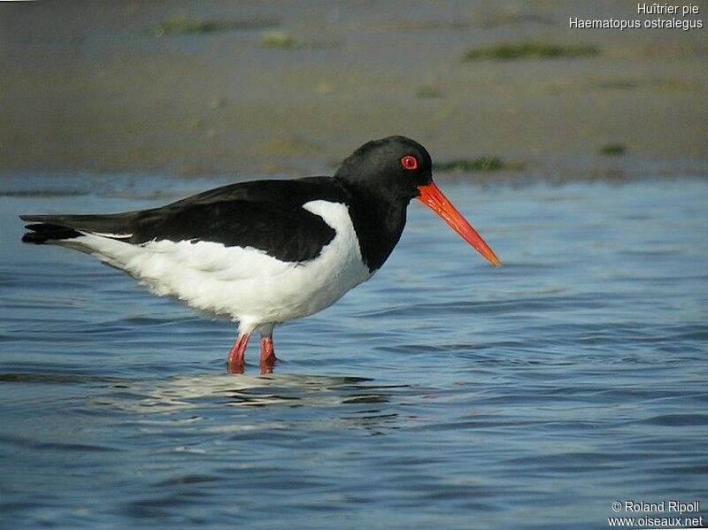
{"type": "Polygon", "coordinates": [[[283,432],[303,429],[381,434],[398,426],[399,413],[389,404],[392,396],[408,392],[414,390],[358,377],[283,374],[235,378],[204,373],[101,384],[86,397],[85,406],[91,416],[115,416],[124,425],[140,426],[143,433],[174,431],[184,442],[193,439],[189,450],[210,452],[217,449],[209,436],[227,433],[260,438],[275,430],[279,440],[283,440],[283,432]],[[234,408],[253,412],[239,414],[232,421],[229,410],[234,408]],[[196,433],[199,436],[194,438],[196,433]]]}

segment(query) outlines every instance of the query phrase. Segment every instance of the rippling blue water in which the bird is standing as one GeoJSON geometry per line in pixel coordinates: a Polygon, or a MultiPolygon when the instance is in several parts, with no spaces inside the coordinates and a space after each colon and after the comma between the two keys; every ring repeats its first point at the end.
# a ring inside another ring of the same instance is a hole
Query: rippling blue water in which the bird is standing
{"type": "Polygon", "coordinates": [[[3,527],[604,528],[614,501],[708,505],[708,181],[443,181],[504,268],[414,204],[372,280],[276,329],[271,376],[257,345],[225,373],[231,324],[19,243],[19,212],[219,183],[3,181],[3,527]]]}

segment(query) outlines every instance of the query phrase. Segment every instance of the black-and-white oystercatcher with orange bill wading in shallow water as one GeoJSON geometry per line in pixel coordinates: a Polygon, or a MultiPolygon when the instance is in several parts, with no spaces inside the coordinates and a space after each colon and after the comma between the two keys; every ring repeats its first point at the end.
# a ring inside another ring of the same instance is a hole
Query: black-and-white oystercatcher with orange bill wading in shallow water
{"type": "Polygon", "coordinates": [[[228,373],[243,373],[258,332],[261,373],[272,373],[274,326],[322,311],[371,278],[399,241],[412,199],[501,265],[435,185],[427,150],[400,135],[366,142],[333,176],[236,182],[141,211],[19,217],[31,223],[23,242],[93,255],[158,296],[233,320],[228,373]]]}

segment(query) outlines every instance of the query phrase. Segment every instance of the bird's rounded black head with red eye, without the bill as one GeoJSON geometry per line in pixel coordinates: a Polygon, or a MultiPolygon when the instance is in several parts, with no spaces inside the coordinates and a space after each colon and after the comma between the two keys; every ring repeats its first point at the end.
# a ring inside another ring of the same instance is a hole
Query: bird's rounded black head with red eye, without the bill
{"type": "Polygon", "coordinates": [[[419,186],[433,181],[433,162],[418,142],[389,136],[367,142],[351,153],[335,177],[373,193],[410,200],[419,196],[419,186]]]}

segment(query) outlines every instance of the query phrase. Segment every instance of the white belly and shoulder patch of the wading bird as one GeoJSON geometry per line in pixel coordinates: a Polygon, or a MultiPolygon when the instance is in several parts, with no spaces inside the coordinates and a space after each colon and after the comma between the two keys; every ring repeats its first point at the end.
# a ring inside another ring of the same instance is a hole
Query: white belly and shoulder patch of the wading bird
{"type": "Polygon", "coordinates": [[[304,204],[335,229],[319,256],[283,262],[262,250],[216,242],[133,245],[86,234],[73,242],[131,274],[158,295],[175,296],[201,311],[228,315],[242,332],[312,315],[368,280],[349,209],[323,200],[304,204]]]}

